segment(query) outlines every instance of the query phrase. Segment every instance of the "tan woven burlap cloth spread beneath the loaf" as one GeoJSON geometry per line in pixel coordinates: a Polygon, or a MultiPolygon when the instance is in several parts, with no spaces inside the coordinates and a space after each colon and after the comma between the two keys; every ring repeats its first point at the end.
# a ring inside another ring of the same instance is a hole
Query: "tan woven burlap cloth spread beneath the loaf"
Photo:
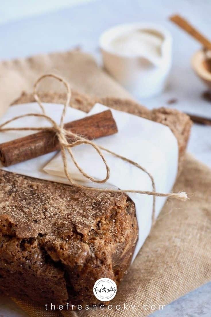
{"type": "MultiPolygon", "coordinates": [[[[39,75],[49,71],[65,76],[71,87],[82,93],[130,97],[89,55],[80,52],[40,55],[0,64],[1,113],[22,90],[30,92],[39,75]]],[[[61,90],[60,86],[53,85],[55,82],[44,89],[61,90]]],[[[183,172],[174,187],[174,191],[181,190],[189,194],[190,200],[165,204],[111,302],[113,307],[118,304],[123,308],[125,303],[135,305],[135,309],[63,311],[62,314],[66,317],[147,316],[154,309],[152,305],[159,309],[159,305],[168,304],[210,280],[211,170],[190,155],[186,155],[183,172]]],[[[15,301],[31,317],[61,316],[59,312],[15,301]]]]}

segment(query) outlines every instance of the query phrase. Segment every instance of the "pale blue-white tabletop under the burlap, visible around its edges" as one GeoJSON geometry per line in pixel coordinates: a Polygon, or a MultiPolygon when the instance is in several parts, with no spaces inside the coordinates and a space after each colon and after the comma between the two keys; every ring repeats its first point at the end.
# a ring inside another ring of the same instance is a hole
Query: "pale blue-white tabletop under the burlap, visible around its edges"
{"type": "MultiPolygon", "coordinates": [[[[207,88],[190,66],[191,56],[200,49],[200,44],[167,20],[169,15],[180,13],[210,37],[210,12],[209,0],[92,1],[65,10],[3,23],[0,25],[0,59],[64,51],[80,45],[84,51],[92,53],[99,60],[98,38],[105,29],[126,22],[159,23],[170,30],[174,39],[169,86],[160,96],[142,99],[140,103],[149,108],[168,106],[211,118],[211,102],[201,97],[207,88]],[[176,98],[177,103],[167,105],[167,101],[172,98],[176,98]]],[[[211,126],[194,124],[188,150],[211,167],[211,126]]],[[[194,317],[203,314],[208,317],[211,304],[207,294],[210,291],[211,284],[207,284],[154,316],[194,317]]],[[[0,313],[3,316],[21,316],[20,311],[14,315],[14,310],[11,311],[8,305],[6,308],[2,307],[0,304],[0,313]]]]}

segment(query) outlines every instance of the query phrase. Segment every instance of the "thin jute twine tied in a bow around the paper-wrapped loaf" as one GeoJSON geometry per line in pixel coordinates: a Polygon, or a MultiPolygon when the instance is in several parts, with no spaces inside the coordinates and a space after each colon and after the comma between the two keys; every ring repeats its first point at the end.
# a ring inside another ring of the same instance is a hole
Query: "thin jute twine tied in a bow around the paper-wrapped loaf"
{"type": "Polygon", "coordinates": [[[4,122],[3,124],[0,125],[0,131],[17,131],[17,130],[36,130],[36,131],[43,131],[43,130],[50,130],[50,131],[54,131],[58,140],[59,140],[59,145],[60,145],[60,150],[61,150],[61,154],[62,154],[62,160],[63,160],[63,164],[64,164],[64,171],[65,171],[65,175],[66,175],[66,178],[69,180],[70,184],[71,185],[74,185],[74,186],[77,186],[78,188],[80,189],[88,189],[90,191],[97,191],[97,192],[116,192],[116,193],[138,193],[138,194],[144,194],[144,195],[152,195],[153,196],[153,206],[152,206],[152,224],[155,222],[155,199],[156,197],[171,197],[171,198],[176,198],[176,199],[179,199],[179,200],[183,200],[185,201],[186,199],[188,199],[187,197],[187,194],[185,192],[179,192],[179,193],[174,193],[174,192],[171,192],[171,193],[159,193],[159,192],[156,192],[155,190],[155,182],[154,182],[154,178],[153,176],[148,172],[146,171],[146,169],[142,166],[140,166],[138,163],[130,160],[130,159],[127,159],[115,152],[112,152],[110,151],[109,149],[106,149],[104,148],[103,146],[99,146],[99,145],[96,145],[93,141],[90,141],[90,140],[87,140],[85,139],[84,137],[78,135],[78,134],[75,134],[75,133],[72,133],[70,131],[67,131],[64,129],[64,118],[65,118],[65,114],[66,114],[66,110],[67,110],[67,107],[69,106],[70,104],[70,100],[71,100],[71,89],[69,87],[69,84],[67,83],[67,81],[65,81],[62,77],[59,77],[57,75],[54,75],[54,74],[44,74],[42,76],[40,76],[40,78],[38,78],[38,80],[35,82],[34,84],[34,99],[37,101],[37,103],[39,104],[41,110],[42,110],[42,114],[38,114],[38,113],[28,113],[28,114],[24,114],[24,115],[20,115],[20,116],[16,116],[6,122],[4,122]],[[37,87],[38,87],[38,84],[40,83],[40,81],[46,77],[53,77],[59,81],[61,81],[65,87],[66,87],[66,90],[67,90],[67,98],[66,98],[66,102],[64,104],[64,108],[63,108],[63,111],[62,111],[62,115],[61,115],[61,119],[60,119],[60,123],[59,125],[49,116],[47,116],[47,114],[45,113],[45,108],[37,94],[37,87]],[[20,128],[3,128],[5,125],[7,125],[8,123],[12,122],[12,121],[15,121],[15,120],[18,120],[20,118],[23,118],[23,117],[29,117],[29,116],[34,116],[34,117],[43,117],[45,118],[47,121],[49,121],[51,123],[51,127],[20,127],[20,128]],[[72,139],[74,139],[75,141],[72,142],[71,144],[68,143],[67,141],[67,137],[71,137],[72,139]],[[87,144],[87,145],[90,145],[92,146],[96,152],[99,154],[99,156],[101,157],[105,167],[106,167],[106,177],[104,179],[96,179],[96,178],[93,178],[91,177],[90,175],[88,175],[79,165],[78,165],[78,162],[76,161],[73,153],[72,153],[72,150],[71,148],[74,147],[74,146],[78,146],[78,145],[81,145],[81,144],[87,144]],[[151,182],[152,182],[152,191],[139,191],[139,190],[131,190],[131,189],[127,189],[127,190],[120,190],[120,189],[102,189],[102,188],[91,188],[91,187],[87,187],[87,186],[83,186],[83,185],[80,185],[80,184],[77,184],[73,181],[73,179],[71,178],[69,172],[68,172],[68,166],[67,166],[67,156],[66,156],[66,150],[67,152],[70,154],[71,156],[71,159],[73,161],[73,163],[75,164],[75,166],[77,167],[77,169],[80,171],[80,173],[87,179],[89,179],[90,181],[92,182],[95,182],[95,183],[105,183],[108,179],[109,179],[109,176],[110,176],[110,169],[109,169],[109,166],[106,162],[106,159],[104,157],[104,155],[102,154],[102,151],[105,151],[105,152],[108,152],[112,155],[114,155],[115,157],[119,158],[119,159],[122,159],[123,161],[125,162],[128,162],[129,164],[132,164],[134,166],[136,166],[137,168],[139,168],[140,170],[142,170],[143,172],[145,172],[149,178],[151,179],[151,182]],[[102,151],[101,151],[102,150],[102,151]]]}

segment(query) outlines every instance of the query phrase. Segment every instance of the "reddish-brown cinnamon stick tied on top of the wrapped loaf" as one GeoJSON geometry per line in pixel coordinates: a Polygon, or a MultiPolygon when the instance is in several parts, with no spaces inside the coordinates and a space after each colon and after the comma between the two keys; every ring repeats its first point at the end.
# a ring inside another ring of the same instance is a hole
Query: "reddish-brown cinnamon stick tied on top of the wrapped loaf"
{"type": "MultiPolygon", "coordinates": [[[[64,128],[90,140],[118,131],[110,110],[66,123],[64,128]]],[[[72,141],[71,138],[68,139],[69,143],[72,141]]],[[[0,144],[0,160],[4,166],[9,166],[59,150],[59,148],[55,132],[43,130],[0,144]]]]}

